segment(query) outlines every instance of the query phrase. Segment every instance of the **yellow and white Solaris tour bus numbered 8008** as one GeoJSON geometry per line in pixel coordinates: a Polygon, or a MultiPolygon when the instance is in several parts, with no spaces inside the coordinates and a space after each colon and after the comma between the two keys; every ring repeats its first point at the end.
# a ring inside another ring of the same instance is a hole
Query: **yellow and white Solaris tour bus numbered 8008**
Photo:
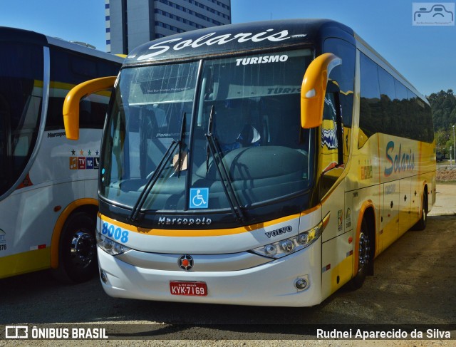
{"type": "Polygon", "coordinates": [[[96,233],[110,296],[311,306],[360,287],[378,254],[426,225],[430,105],[343,24],[167,36],[132,51],[114,87],[96,233]]]}

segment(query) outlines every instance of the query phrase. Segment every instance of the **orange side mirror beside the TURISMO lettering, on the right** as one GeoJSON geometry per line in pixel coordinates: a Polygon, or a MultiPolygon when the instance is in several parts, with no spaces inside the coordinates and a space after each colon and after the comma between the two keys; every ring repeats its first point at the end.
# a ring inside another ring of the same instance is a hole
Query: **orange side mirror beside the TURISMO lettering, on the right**
{"type": "Polygon", "coordinates": [[[341,63],[342,59],[333,53],[323,53],[310,63],[301,86],[302,128],[321,126],[328,77],[331,70],[341,63]]]}

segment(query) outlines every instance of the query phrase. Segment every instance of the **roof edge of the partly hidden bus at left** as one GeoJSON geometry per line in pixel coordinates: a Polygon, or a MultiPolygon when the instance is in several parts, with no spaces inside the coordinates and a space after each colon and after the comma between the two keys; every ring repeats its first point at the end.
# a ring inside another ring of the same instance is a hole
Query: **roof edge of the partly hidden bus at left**
{"type": "Polygon", "coordinates": [[[42,33],[36,33],[35,31],[28,31],[24,29],[0,26],[0,41],[32,43],[38,46],[57,46],[68,49],[70,51],[87,54],[89,56],[95,56],[98,58],[115,61],[117,63],[123,63],[123,58],[115,56],[114,54],[105,53],[103,51],[98,51],[93,48],[82,46],[81,44],[65,41],[61,38],[54,38],[51,36],[43,35],[42,33]]]}

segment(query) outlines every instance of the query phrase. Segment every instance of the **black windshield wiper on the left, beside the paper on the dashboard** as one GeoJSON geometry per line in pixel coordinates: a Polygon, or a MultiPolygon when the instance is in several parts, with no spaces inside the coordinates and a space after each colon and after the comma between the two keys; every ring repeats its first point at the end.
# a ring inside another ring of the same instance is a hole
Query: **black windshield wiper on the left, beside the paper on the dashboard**
{"type": "Polygon", "coordinates": [[[181,130],[180,130],[180,139],[179,140],[172,140],[172,143],[170,143],[170,146],[167,148],[165,155],[163,155],[162,159],[157,165],[157,168],[155,171],[150,175],[149,180],[147,180],[147,183],[144,186],[144,189],[142,190],[140,196],[138,197],[138,200],[136,200],[135,206],[133,206],[133,209],[131,210],[130,216],[128,217],[128,221],[130,222],[135,222],[138,220],[138,216],[140,214],[140,210],[142,209],[142,206],[145,204],[145,200],[147,199],[147,196],[150,194],[150,191],[152,190],[152,187],[154,187],[155,183],[157,182],[158,178],[160,175],[162,175],[163,170],[165,170],[165,167],[167,165],[167,162],[170,160],[170,157],[172,156],[172,153],[176,150],[176,147],[179,146],[179,163],[178,169],[180,172],[180,151],[182,150],[182,142],[184,138],[184,133],[185,133],[185,112],[182,117],[182,125],[181,125],[181,130]]]}

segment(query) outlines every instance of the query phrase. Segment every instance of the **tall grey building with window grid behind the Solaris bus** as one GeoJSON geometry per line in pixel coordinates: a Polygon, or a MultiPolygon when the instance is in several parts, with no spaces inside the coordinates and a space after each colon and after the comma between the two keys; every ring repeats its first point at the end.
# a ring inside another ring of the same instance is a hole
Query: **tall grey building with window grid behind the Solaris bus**
{"type": "Polygon", "coordinates": [[[106,51],[127,54],[155,38],[231,23],[231,0],[105,0],[106,51]]]}

